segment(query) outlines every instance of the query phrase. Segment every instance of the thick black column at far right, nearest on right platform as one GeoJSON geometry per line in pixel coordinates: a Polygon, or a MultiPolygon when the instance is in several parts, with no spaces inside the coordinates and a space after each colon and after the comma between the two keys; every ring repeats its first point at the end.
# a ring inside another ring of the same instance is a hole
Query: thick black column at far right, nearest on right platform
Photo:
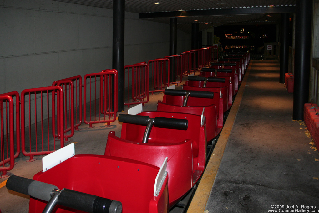
{"type": "Polygon", "coordinates": [[[296,2],[296,44],[293,87],[293,119],[303,120],[303,105],[309,100],[312,2],[296,2]]]}

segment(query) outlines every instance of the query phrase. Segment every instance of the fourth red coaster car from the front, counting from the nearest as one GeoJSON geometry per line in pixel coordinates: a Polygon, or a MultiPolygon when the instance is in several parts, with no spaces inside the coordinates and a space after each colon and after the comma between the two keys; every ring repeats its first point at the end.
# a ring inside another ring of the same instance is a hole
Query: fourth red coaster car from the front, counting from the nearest
{"type": "MultiPolygon", "coordinates": [[[[229,77],[228,77],[229,78],[229,77]]],[[[199,90],[209,92],[221,92],[223,97],[224,112],[230,109],[233,104],[232,84],[225,78],[214,78],[204,76],[188,76],[183,85],[185,90],[199,90]]]]}

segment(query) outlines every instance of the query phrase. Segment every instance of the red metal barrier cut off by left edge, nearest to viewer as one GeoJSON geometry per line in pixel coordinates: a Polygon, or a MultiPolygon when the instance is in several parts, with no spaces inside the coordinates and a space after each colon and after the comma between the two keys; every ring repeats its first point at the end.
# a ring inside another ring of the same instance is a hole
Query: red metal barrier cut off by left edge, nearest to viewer
{"type": "Polygon", "coordinates": [[[0,139],[1,139],[1,178],[7,177],[14,167],[14,123],[13,123],[13,100],[9,95],[0,95],[0,139]],[[9,163],[9,166],[5,166],[9,163]]]}

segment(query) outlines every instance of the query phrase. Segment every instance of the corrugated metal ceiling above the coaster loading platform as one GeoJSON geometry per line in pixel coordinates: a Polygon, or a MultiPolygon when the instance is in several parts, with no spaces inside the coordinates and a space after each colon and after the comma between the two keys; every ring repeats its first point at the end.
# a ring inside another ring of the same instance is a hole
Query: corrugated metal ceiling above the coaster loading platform
{"type": "MultiPolygon", "coordinates": [[[[83,4],[95,7],[113,9],[112,0],[58,0],[74,4],[83,4]]],[[[134,13],[160,13],[167,11],[205,11],[216,9],[236,8],[261,8],[274,5],[274,7],[291,7],[296,0],[126,0],[125,11],[134,13]],[[155,4],[159,2],[160,4],[155,4]]],[[[199,11],[199,12],[200,12],[199,11]]],[[[226,10],[225,10],[226,11],[226,10]]],[[[205,15],[186,16],[177,18],[177,27],[190,33],[191,24],[199,23],[199,30],[205,30],[212,26],[217,27],[225,24],[276,24],[280,19],[279,14],[229,14],[229,15],[205,15]],[[195,21],[196,20],[196,21],[195,21]]],[[[169,24],[169,18],[160,17],[149,19],[151,21],[169,24]]]]}

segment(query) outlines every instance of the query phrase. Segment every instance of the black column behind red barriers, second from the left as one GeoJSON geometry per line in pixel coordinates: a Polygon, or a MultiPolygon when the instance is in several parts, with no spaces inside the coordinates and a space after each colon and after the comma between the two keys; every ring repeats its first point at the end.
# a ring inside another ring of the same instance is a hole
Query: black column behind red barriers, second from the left
{"type": "MultiPolygon", "coordinates": [[[[174,56],[177,53],[177,18],[169,19],[169,55],[174,56]]],[[[175,60],[172,58],[170,61],[170,82],[176,81],[176,69],[175,69],[175,60]]]]}

